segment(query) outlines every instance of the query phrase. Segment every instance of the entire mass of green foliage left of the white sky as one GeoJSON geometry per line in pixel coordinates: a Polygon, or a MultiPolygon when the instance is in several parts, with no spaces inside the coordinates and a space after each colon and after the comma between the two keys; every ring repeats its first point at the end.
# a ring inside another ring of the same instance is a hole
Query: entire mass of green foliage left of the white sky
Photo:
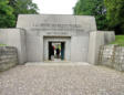
{"type": "Polygon", "coordinates": [[[13,28],[18,14],[35,14],[38,10],[32,0],[0,0],[0,28],[13,28]]]}

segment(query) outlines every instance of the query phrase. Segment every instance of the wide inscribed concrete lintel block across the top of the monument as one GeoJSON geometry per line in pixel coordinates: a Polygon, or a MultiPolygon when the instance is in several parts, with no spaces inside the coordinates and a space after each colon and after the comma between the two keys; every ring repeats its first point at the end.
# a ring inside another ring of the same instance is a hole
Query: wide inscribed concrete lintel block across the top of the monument
{"type": "MultiPolygon", "coordinates": [[[[72,14],[19,14],[17,28],[40,29],[83,29],[96,31],[95,18],[92,15],[72,14]]],[[[83,31],[82,31],[83,32],[83,31]]]]}

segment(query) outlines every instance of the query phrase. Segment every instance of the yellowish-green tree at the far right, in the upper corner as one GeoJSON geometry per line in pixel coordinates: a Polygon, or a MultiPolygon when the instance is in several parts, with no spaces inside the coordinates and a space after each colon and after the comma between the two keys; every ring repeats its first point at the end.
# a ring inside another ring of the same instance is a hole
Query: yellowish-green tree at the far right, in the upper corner
{"type": "Polygon", "coordinates": [[[110,30],[124,34],[124,0],[104,0],[110,30]]]}

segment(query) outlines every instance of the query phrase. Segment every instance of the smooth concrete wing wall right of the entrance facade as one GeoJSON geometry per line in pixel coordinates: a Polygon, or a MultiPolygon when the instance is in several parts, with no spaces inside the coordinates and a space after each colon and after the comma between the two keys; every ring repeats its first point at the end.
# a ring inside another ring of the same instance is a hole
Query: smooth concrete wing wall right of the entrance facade
{"type": "Polygon", "coordinates": [[[114,31],[94,31],[90,33],[87,62],[99,64],[100,46],[115,41],[114,31]]]}

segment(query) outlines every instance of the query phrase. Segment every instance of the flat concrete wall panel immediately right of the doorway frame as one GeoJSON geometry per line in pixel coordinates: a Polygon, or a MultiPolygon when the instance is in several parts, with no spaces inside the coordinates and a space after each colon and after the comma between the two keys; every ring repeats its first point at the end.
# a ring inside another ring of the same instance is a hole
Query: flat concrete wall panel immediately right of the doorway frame
{"type": "Polygon", "coordinates": [[[87,62],[89,34],[83,36],[72,36],[71,40],[71,61],[87,62]]]}

